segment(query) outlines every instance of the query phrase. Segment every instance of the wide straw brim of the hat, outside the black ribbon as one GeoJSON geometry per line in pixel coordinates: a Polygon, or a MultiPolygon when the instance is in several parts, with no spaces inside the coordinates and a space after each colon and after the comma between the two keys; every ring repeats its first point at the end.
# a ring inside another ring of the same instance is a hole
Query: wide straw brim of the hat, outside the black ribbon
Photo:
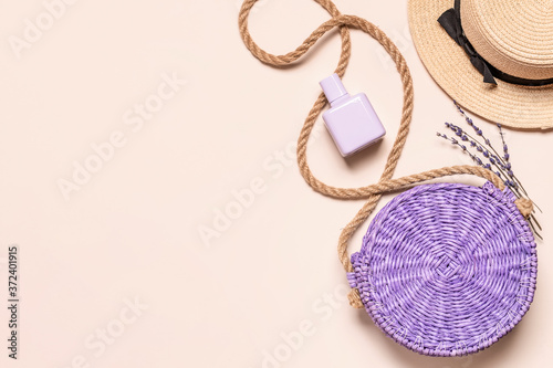
{"type": "Polygon", "coordinates": [[[521,129],[553,127],[553,85],[529,87],[497,80],[483,82],[465,51],[438,18],[453,0],[409,0],[409,28],[420,60],[438,85],[465,108],[521,129]]]}

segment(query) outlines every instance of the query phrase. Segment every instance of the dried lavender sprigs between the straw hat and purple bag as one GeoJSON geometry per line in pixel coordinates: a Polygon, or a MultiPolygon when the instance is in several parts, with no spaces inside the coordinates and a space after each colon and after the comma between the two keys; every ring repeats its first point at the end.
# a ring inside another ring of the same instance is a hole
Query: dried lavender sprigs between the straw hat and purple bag
{"type": "MultiPolygon", "coordinates": [[[[514,175],[513,169],[512,169],[512,165],[509,161],[509,159],[510,159],[509,147],[504,140],[504,135],[503,135],[503,129],[501,127],[501,124],[498,124],[497,126],[499,129],[499,134],[501,136],[501,144],[503,146],[503,149],[502,149],[503,154],[502,155],[500,155],[495,150],[495,148],[492,146],[490,139],[488,139],[483,135],[482,129],[480,129],[478,126],[474,125],[472,119],[465,113],[465,111],[462,111],[462,108],[457,104],[457,102],[455,102],[455,105],[456,105],[457,109],[459,111],[459,113],[463,116],[467,124],[472,128],[472,130],[474,130],[474,134],[478,138],[473,137],[468,132],[463,130],[461,127],[459,127],[455,124],[451,124],[451,123],[446,123],[445,125],[446,125],[446,128],[451,130],[455,136],[449,137],[446,134],[441,134],[441,133],[437,133],[437,136],[450,141],[453,146],[460,148],[478,166],[483,167],[483,168],[494,172],[504,182],[504,185],[509,189],[511,189],[511,191],[518,198],[530,199],[526,190],[524,189],[524,187],[522,186],[520,180],[514,175]],[[482,143],[482,140],[483,140],[483,143],[482,143]]],[[[540,209],[538,206],[536,206],[536,208],[540,209]]],[[[538,222],[538,220],[535,219],[534,214],[530,215],[529,222],[530,222],[530,225],[532,227],[532,230],[534,231],[534,233],[540,239],[542,239],[542,236],[539,234],[539,232],[534,228],[534,223],[535,223],[535,225],[540,230],[542,230],[542,228],[541,228],[540,223],[538,222]]]]}

